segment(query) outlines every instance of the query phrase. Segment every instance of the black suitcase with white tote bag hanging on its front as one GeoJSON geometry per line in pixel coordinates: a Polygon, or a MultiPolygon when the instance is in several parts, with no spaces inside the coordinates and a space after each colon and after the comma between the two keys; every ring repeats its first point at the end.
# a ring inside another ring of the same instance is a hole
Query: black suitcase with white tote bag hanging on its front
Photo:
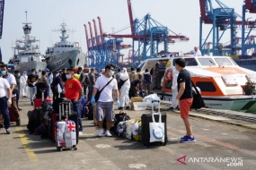
{"type": "MultiPolygon", "coordinates": [[[[160,101],[158,100],[153,100],[153,102],[159,102],[158,105],[158,113],[160,113],[160,101]]],[[[152,113],[154,113],[154,105],[152,104],[152,113]]],[[[161,113],[161,119],[162,119],[162,123],[164,123],[164,142],[153,142],[153,143],[160,143],[163,146],[166,145],[167,141],[168,141],[168,137],[167,137],[167,128],[166,128],[166,114],[165,113],[161,113]]],[[[159,121],[159,115],[154,115],[154,120],[155,122],[159,121]]],[[[141,115],[141,122],[142,122],[142,132],[141,132],[141,138],[142,138],[142,142],[144,143],[144,146],[149,147],[150,143],[150,130],[149,130],[149,123],[152,123],[152,114],[143,114],[141,115]]]]}

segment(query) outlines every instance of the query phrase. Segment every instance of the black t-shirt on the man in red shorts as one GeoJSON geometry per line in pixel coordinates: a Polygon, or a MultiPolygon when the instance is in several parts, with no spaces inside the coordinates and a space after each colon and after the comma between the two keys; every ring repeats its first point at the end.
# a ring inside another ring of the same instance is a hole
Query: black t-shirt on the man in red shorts
{"type": "Polygon", "coordinates": [[[180,83],[185,82],[185,90],[183,94],[181,95],[180,99],[185,99],[185,98],[193,98],[192,94],[192,84],[190,81],[190,72],[186,70],[181,70],[181,72],[178,75],[177,78],[177,83],[178,83],[178,90],[180,90],[180,83]]]}

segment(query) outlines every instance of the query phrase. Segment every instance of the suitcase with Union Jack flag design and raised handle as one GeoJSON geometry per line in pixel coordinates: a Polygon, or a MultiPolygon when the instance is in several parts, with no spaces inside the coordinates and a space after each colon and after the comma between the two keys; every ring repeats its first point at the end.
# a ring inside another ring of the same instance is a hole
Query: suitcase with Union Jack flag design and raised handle
{"type": "Polygon", "coordinates": [[[56,146],[58,151],[63,149],[76,150],[76,127],[74,121],[68,119],[68,115],[71,115],[70,102],[59,104],[59,121],[56,122],[56,146]],[[65,114],[66,113],[66,114],[65,114]],[[63,117],[62,115],[66,115],[63,117]],[[63,119],[64,118],[64,119],[63,119]]]}

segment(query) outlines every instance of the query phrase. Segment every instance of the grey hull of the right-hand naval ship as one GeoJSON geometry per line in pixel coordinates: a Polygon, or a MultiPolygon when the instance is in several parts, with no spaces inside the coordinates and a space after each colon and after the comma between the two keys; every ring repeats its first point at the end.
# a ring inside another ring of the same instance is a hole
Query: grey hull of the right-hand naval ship
{"type": "Polygon", "coordinates": [[[79,50],[67,51],[57,55],[49,55],[46,58],[47,68],[50,72],[56,72],[64,68],[79,67],[86,64],[85,54],[79,50]]]}

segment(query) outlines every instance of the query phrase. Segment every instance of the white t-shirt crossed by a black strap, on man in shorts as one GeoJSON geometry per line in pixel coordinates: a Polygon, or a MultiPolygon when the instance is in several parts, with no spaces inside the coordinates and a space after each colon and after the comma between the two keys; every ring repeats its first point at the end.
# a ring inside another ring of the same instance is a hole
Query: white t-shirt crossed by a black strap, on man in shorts
{"type": "MultiPolygon", "coordinates": [[[[112,77],[107,78],[104,75],[100,76],[95,82],[94,88],[102,90],[104,86],[111,80],[112,77]]],[[[106,86],[101,93],[101,96],[98,101],[101,102],[111,102],[113,101],[113,89],[118,89],[118,82],[116,79],[113,79],[108,86],[106,86]]]]}

